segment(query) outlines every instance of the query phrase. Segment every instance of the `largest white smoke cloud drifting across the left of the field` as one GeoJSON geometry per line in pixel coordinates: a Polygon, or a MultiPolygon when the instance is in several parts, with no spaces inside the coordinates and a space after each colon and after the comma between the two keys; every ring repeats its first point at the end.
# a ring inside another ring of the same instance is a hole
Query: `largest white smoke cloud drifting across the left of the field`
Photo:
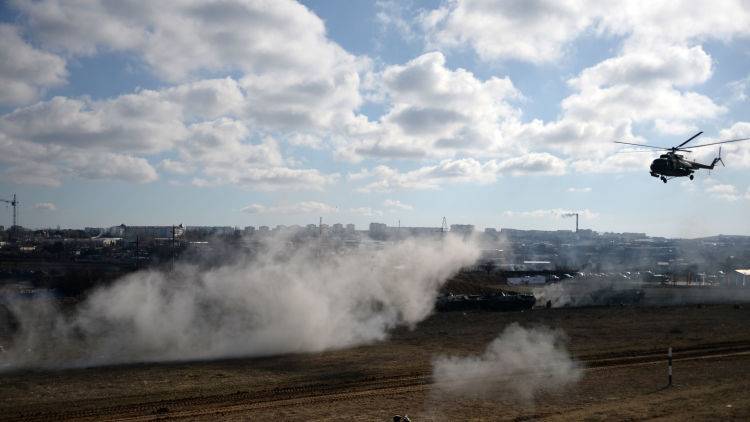
{"type": "MultiPolygon", "coordinates": [[[[142,271],[75,309],[8,305],[18,326],[4,369],[267,356],[384,339],[433,310],[440,286],[479,251],[454,237],[380,250],[291,250],[283,239],[211,269],[142,271]]],[[[6,347],[7,349],[7,347],[6,347]]]]}

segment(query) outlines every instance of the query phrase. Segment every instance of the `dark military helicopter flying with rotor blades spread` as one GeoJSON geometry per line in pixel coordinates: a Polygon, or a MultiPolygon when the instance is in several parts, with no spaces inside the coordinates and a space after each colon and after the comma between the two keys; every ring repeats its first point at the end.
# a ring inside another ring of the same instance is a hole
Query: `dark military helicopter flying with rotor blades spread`
{"type": "MultiPolygon", "coordinates": [[[[645,144],[634,144],[632,142],[621,142],[621,141],[615,141],[615,143],[625,144],[625,145],[635,145],[639,147],[653,148],[653,149],[667,151],[666,154],[660,155],[659,158],[651,162],[651,171],[650,171],[651,176],[658,177],[661,179],[662,182],[667,183],[667,180],[673,179],[675,177],[689,177],[690,180],[693,180],[693,177],[694,177],[693,173],[695,173],[697,170],[700,170],[700,169],[706,169],[709,171],[713,170],[714,166],[716,166],[717,163],[721,163],[721,165],[724,166],[724,160],[721,159],[721,147],[719,147],[719,155],[716,158],[714,158],[713,161],[711,161],[711,164],[702,164],[696,161],[690,161],[686,159],[684,155],[677,153],[677,152],[692,152],[683,147],[688,142],[699,137],[701,134],[703,134],[703,132],[698,132],[695,135],[688,138],[687,141],[681,143],[680,145],[671,147],[671,148],[656,147],[653,145],[645,145],[645,144]]],[[[693,145],[690,148],[691,149],[703,148],[703,147],[708,147],[711,145],[747,141],[748,139],[750,138],[729,139],[726,141],[711,142],[709,144],[693,145]]]]}

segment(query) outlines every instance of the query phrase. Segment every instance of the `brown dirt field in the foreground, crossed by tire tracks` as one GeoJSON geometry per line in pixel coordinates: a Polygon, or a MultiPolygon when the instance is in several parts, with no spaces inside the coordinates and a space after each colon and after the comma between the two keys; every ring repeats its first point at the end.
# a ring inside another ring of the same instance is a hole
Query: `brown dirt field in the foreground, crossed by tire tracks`
{"type": "Polygon", "coordinates": [[[749,323],[735,305],[441,313],[325,353],[0,374],[0,419],[750,420],[749,323]],[[561,330],[581,380],[534,400],[435,388],[436,356],[480,354],[513,322],[561,330]]]}

